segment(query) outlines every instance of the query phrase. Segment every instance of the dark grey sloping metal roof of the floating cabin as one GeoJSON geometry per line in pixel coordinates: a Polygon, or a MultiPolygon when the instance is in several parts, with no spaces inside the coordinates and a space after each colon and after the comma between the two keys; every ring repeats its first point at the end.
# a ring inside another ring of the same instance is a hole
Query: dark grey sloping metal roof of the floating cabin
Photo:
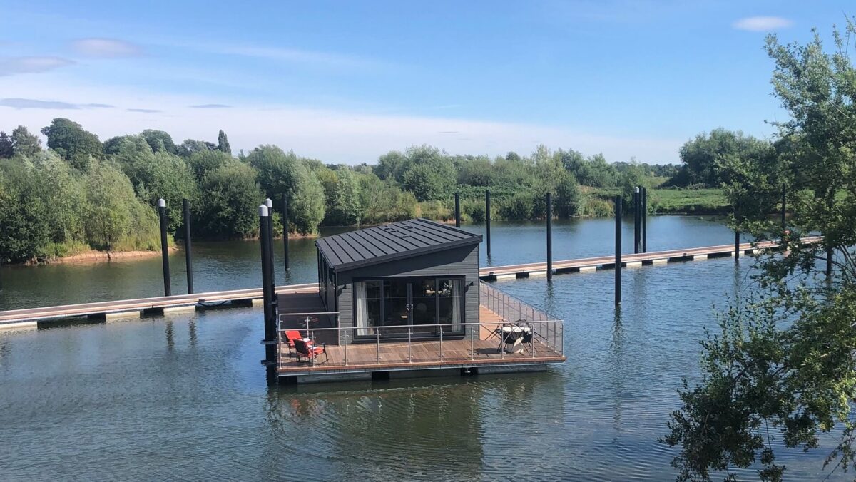
{"type": "Polygon", "coordinates": [[[327,236],[315,246],[334,271],[342,271],[480,242],[481,235],[419,218],[327,236]]]}

